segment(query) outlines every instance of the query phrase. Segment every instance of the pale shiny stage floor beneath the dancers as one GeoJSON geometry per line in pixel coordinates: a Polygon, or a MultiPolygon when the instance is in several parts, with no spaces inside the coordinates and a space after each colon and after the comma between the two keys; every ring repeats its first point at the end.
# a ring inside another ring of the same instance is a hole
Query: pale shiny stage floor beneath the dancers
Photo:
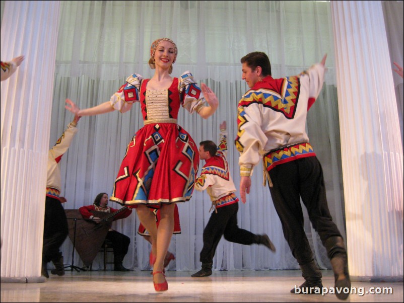
{"type": "MultiPolygon", "coordinates": [[[[50,273],[50,270],[49,270],[50,273]]],[[[214,271],[191,278],[188,271],[167,273],[168,291],[156,292],[150,271],[66,271],[45,283],[2,283],[2,302],[335,302],[335,294],[292,294],[303,282],[298,270],[214,271]]],[[[333,286],[324,270],[323,286],[333,286]]],[[[353,282],[348,302],[402,302],[403,283],[353,282]],[[370,292],[387,293],[371,294],[370,292]],[[366,293],[368,292],[368,293],[366,293]]]]}

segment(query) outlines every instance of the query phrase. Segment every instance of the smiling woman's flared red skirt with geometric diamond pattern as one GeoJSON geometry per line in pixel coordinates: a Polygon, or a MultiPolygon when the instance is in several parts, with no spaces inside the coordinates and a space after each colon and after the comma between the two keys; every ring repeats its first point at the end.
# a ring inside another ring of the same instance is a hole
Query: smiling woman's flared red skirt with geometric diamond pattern
{"type": "Polygon", "coordinates": [[[130,141],[116,177],[111,201],[136,208],[188,201],[198,171],[198,148],[178,124],[142,127],[130,141]]]}

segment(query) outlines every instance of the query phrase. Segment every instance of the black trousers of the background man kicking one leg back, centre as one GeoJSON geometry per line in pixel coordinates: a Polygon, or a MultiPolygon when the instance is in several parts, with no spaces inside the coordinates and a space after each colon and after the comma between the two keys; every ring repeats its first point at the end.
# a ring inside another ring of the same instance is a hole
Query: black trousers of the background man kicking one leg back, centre
{"type": "Polygon", "coordinates": [[[204,247],[200,252],[200,262],[212,263],[222,235],[230,242],[251,245],[256,243],[255,235],[240,229],[237,225],[238,203],[217,208],[204,230],[204,247]]]}

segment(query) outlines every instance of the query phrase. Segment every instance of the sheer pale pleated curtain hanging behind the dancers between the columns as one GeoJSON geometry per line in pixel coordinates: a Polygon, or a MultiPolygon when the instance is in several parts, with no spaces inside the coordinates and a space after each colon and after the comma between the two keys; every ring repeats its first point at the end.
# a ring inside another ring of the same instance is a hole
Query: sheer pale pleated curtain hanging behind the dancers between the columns
{"type": "MultiPolygon", "coordinates": [[[[151,42],[169,37],[178,47],[173,75],[190,70],[217,94],[217,112],[208,120],[181,109],[179,124],[195,142],[217,141],[219,124],[227,120],[229,164],[238,188],[236,108],[247,91],[241,81],[240,58],[248,52],[264,51],[270,57],[274,78],[298,74],[328,53],[328,72],[322,94],[311,108],[308,134],[325,176],[329,208],[345,237],[344,201],[340,157],[339,119],[333,63],[333,38],[328,2],[310,1],[62,1],[58,36],[51,145],[73,119],[64,109],[70,98],[80,108],[109,100],[133,72],[149,78],[151,42]]],[[[130,112],[83,117],[79,133],[62,158],[62,194],[66,209],[92,204],[100,192],[110,193],[126,145],[143,126],[139,104],[130,112]]],[[[204,163],[200,163],[200,167],[204,163]]],[[[266,233],[277,247],[275,254],[262,246],[241,246],[221,240],[214,269],[259,270],[296,269],[283,237],[282,226],[270,191],[262,186],[262,165],[255,170],[247,203],[241,204],[239,226],[253,233],[266,233]]],[[[165,180],[161,180],[162,183],[165,180]]],[[[237,193],[238,194],[238,193],[237,193]]],[[[110,206],[120,205],[110,202],[110,206]]],[[[176,256],[169,269],[194,270],[200,267],[199,252],[203,230],[210,217],[210,199],[196,192],[179,205],[182,234],[173,236],[169,250],[176,256]]],[[[137,235],[135,212],[114,222],[113,228],[131,239],[124,266],[149,269],[150,244],[137,235]]],[[[307,218],[305,228],[315,259],[329,268],[324,248],[307,218]]],[[[72,261],[72,243],[62,246],[65,263],[72,261]]],[[[81,265],[75,255],[75,265],[81,265]]],[[[97,256],[93,268],[100,268],[97,256]]]]}

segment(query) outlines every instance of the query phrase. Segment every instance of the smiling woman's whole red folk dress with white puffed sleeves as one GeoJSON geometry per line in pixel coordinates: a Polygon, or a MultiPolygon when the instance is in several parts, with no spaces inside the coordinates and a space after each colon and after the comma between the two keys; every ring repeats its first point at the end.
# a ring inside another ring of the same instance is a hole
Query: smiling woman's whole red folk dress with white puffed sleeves
{"type": "Polygon", "coordinates": [[[174,78],[166,90],[147,90],[149,80],[132,74],[111,97],[113,108],[122,113],[134,102],[141,103],[145,126],[127,146],[110,197],[134,208],[138,204],[160,208],[164,203],[188,201],[199,164],[198,147],[177,124],[180,106],[190,113],[204,107],[205,98],[192,74],[185,72],[174,78]]]}

